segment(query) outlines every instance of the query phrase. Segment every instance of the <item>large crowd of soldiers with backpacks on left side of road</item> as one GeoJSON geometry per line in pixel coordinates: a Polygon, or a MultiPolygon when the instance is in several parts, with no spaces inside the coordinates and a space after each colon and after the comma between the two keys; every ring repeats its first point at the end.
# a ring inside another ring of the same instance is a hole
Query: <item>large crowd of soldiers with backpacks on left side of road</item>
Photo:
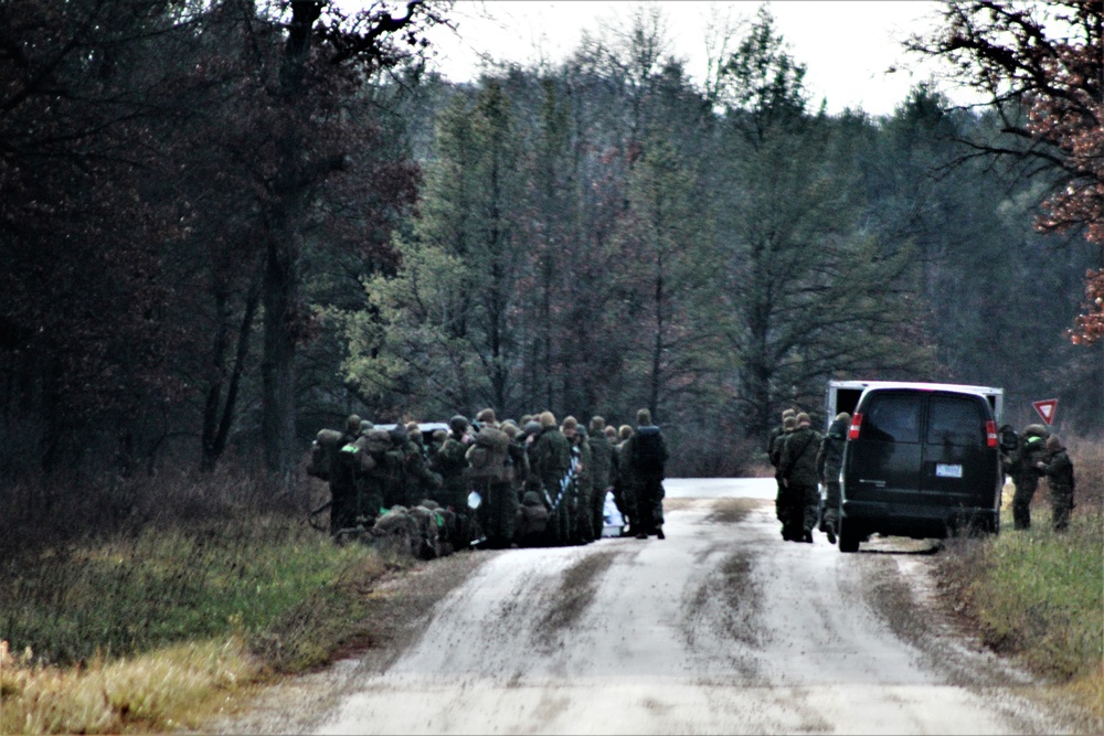
{"type": "Polygon", "coordinates": [[[551,412],[499,422],[486,408],[428,438],[415,422],[383,428],[352,415],[343,433],[318,434],[307,471],[329,481],[335,537],[401,532],[433,557],[590,543],[603,535],[607,493],[627,521],[622,535],[664,538],[667,458],[648,409],[637,427],[615,428],[551,412]]]}

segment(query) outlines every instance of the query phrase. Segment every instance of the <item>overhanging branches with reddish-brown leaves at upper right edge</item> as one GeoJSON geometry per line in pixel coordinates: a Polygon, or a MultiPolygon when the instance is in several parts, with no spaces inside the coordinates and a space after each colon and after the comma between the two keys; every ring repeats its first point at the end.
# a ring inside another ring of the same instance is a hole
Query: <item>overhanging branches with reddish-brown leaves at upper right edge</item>
{"type": "MultiPolygon", "coordinates": [[[[1040,232],[1081,233],[1104,246],[1104,3],[953,0],[944,18],[935,39],[910,46],[944,56],[962,82],[991,98],[1011,142],[973,146],[1020,159],[1029,177],[1050,177],[1034,223],[1040,232]]],[[[1070,331],[1076,344],[1104,329],[1102,273],[1086,275],[1086,312],[1070,331]]]]}

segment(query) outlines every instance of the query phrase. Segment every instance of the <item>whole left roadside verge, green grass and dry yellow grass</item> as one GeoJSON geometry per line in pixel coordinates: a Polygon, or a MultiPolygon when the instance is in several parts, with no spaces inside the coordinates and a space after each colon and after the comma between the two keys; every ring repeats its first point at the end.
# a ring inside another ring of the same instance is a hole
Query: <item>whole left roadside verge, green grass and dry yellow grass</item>
{"type": "Polygon", "coordinates": [[[362,640],[360,604],[406,564],[279,514],[12,556],[0,733],[198,727],[362,640]]]}

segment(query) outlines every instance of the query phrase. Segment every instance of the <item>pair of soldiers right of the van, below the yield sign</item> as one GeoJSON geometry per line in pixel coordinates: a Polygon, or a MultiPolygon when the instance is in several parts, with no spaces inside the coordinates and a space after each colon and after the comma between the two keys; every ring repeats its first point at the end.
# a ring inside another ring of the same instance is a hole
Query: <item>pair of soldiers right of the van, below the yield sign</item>
{"type": "Polygon", "coordinates": [[[1012,526],[1031,529],[1031,499],[1045,476],[1050,486],[1051,524],[1055,532],[1070,526],[1073,512],[1073,462],[1058,435],[1051,435],[1040,424],[1029,424],[1017,434],[1011,425],[1000,428],[1000,461],[1007,477],[1012,479],[1012,526]]]}

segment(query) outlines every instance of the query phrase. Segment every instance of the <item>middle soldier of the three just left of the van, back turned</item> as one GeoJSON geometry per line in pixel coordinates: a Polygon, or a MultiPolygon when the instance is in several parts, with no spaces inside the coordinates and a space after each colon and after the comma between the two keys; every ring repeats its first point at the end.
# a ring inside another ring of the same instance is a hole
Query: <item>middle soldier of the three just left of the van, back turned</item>
{"type": "Polygon", "coordinates": [[[785,437],[778,470],[786,490],[782,536],[790,542],[813,542],[817,525],[817,450],[822,437],[813,429],[809,415],[797,415],[797,428],[785,437]]]}

